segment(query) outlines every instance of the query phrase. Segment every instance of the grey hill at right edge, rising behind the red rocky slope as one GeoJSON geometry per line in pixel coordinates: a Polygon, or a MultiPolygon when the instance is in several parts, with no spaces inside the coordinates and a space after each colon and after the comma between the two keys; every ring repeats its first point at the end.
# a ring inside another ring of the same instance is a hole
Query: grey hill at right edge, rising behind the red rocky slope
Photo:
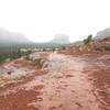
{"type": "Polygon", "coordinates": [[[106,38],[106,37],[110,37],[110,28],[99,31],[95,38],[106,38]]]}

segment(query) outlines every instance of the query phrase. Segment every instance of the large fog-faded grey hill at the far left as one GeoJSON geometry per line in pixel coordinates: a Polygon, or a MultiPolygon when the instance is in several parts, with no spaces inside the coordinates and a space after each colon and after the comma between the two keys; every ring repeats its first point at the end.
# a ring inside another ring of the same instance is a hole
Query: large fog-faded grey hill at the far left
{"type": "Polygon", "coordinates": [[[6,29],[0,29],[0,44],[11,43],[29,43],[30,41],[22,33],[9,32],[6,29]]]}

